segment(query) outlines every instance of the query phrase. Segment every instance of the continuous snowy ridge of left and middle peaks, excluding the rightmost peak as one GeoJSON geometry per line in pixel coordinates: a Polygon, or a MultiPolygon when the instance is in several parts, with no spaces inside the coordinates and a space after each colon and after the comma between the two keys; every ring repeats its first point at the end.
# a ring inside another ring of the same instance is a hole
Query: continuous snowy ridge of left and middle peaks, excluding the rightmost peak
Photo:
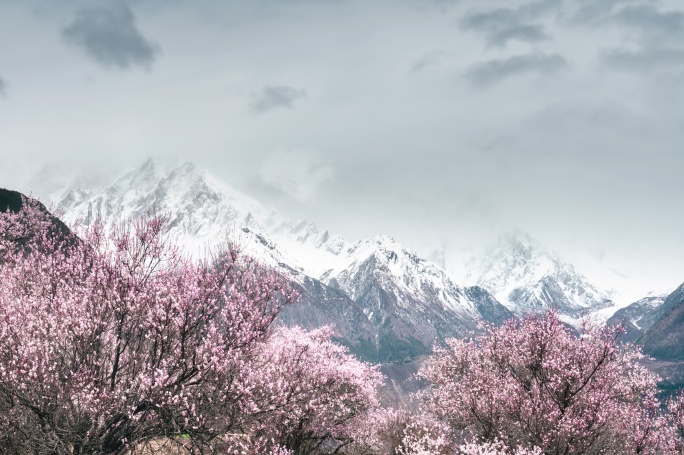
{"type": "Polygon", "coordinates": [[[189,163],[148,160],[107,188],[71,189],[58,209],[70,226],[162,214],[170,234],[195,254],[226,237],[237,240],[300,289],[302,300],[283,313],[284,323],[333,324],[340,341],[369,359],[427,353],[435,342],[474,329],[480,319],[510,317],[484,289],[458,286],[388,237],[352,244],[319,232],[189,163]]]}

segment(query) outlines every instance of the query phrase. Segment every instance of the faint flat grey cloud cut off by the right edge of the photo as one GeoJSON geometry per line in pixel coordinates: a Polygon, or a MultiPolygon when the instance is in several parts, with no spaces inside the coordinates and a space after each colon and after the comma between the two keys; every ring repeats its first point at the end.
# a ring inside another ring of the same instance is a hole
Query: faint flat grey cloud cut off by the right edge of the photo
{"type": "Polygon", "coordinates": [[[634,51],[613,50],[603,55],[603,63],[614,69],[646,73],[683,70],[684,49],[645,47],[634,51]]]}

